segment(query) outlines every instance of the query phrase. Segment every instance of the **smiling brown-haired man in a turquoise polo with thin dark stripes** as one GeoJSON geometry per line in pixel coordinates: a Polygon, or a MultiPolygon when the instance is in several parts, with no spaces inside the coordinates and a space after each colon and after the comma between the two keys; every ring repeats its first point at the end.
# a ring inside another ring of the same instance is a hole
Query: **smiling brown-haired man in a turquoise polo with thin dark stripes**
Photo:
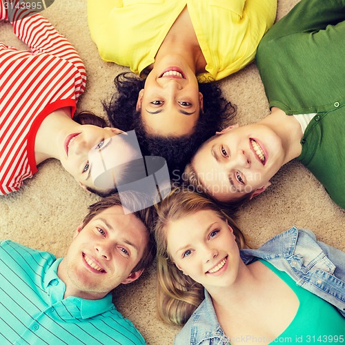
{"type": "Polygon", "coordinates": [[[0,344],[145,344],[110,293],[155,256],[150,210],[124,213],[135,200],[126,192],[90,206],[63,259],[0,243],[0,344]]]}

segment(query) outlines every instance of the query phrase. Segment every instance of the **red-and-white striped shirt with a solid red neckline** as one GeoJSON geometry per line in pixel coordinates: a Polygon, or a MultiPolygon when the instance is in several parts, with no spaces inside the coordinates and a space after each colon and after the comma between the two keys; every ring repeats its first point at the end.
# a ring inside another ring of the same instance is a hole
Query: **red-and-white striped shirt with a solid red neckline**
{"type": "MultiPolygon", "coordinates": [[[[6,19],[0,1],[0,19],[6,19]]],[[[18,190],[37,172],[34,139],[54,110],[75,112],[86,71],[75,48],[40,14],[14,21],[30,50],[0,43],[0,195],[18,190]]]]}

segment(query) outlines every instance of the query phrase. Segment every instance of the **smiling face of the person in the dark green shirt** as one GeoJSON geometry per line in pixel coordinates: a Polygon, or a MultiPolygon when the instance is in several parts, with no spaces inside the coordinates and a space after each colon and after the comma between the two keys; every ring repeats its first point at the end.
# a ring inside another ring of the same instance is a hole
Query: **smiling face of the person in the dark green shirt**
{"type": "Polygon", "coordinates": [[[281,139],[262,124],[233,126],[206,142],[192,165],[201,184],[219,201],[255,196],[270,186],[284,164],[281,139]]]}

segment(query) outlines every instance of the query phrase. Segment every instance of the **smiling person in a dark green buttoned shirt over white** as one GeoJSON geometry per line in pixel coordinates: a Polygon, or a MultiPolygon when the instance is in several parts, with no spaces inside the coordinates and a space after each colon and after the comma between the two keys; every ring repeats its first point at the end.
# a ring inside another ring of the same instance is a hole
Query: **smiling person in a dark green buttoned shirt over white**
{"type": "Polygon", "coordinates": [[[344,0],[302,0],[268,30],[256,58],[270,115],[206,141],[186,167],[189,184],[235,204],[297,158],[345,208],[344,20],[344,0]]]}

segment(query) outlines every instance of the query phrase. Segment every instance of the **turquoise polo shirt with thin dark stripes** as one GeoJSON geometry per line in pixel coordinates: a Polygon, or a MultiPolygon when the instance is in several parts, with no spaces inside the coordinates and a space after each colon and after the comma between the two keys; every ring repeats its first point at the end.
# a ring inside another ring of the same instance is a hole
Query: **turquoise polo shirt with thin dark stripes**
{"type": "Polygon", "coordinates": [[[0,243],[0,344],[145,344],[112,304],[68,297],[62,259],[12,241],[0,243]]]}

